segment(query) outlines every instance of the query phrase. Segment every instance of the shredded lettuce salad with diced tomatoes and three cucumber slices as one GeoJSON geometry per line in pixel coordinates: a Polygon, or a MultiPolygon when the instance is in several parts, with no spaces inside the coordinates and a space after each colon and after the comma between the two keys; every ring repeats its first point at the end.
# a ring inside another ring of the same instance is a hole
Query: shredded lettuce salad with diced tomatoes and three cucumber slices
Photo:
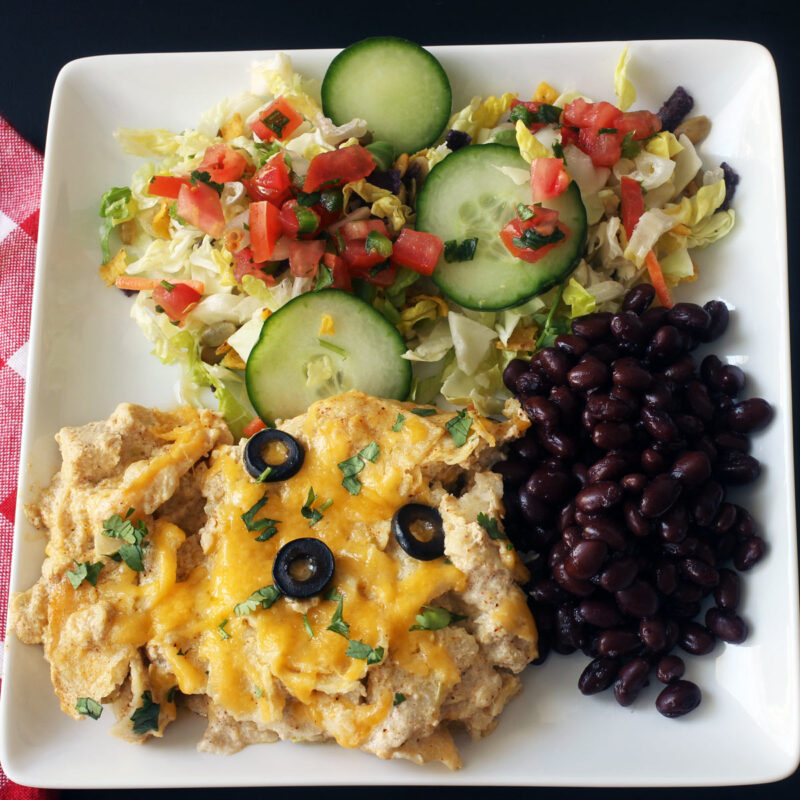
{"type": "Polygon", "coordinates": [[[684,121],[680,88],[630,111],[628,64],[613,103],[547,76],[451,113],[444,70],[410,42],[347,48],[321,89],[279,53],[194,128],[116,131],[147,161],[103,195],[100,274],[135,293],[181,399],[235,436],[354,382],[497,414],[512,359],[638,282],[671,305],[692,250],[734,225],[735,173],[696,150],[710,123],[684,121]]]}

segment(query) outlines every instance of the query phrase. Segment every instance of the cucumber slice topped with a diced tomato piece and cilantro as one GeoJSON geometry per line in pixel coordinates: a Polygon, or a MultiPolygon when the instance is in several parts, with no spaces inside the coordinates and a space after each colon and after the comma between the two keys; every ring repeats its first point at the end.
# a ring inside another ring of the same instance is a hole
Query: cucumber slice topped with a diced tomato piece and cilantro
{"type": "Polygon", "coordinates": [[[581,259],[586,209],[574,182],[560,197],[544,203],[557,209],[569,228],[562,244],[535,264],[506,249],[500,230],[514,218],[519,203],[531,203],[526,174],[530,166],[516,148],[483,144],[451,153],[425,181],[417,198],[417,229],[445,242],[478,237],[472,261],[448,264],[442,258],[433,273],[442,292],[462,306],[492,311],[519,305],[560,283],[581,259]]]}

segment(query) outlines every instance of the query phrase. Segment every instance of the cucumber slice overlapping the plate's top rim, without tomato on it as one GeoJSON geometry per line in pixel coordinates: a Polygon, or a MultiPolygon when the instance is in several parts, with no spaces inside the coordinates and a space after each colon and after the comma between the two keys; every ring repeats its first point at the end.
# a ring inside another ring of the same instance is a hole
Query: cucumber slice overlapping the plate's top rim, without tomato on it
{"type": "Polygon", "coordinates": [[[450,118],[452,93],[442,65],[414,42],[376,36],[351,44],[322,81],[322,109],[334,124],[367,121],[375,140],[397,153],[436,141],[450,118]]]}

